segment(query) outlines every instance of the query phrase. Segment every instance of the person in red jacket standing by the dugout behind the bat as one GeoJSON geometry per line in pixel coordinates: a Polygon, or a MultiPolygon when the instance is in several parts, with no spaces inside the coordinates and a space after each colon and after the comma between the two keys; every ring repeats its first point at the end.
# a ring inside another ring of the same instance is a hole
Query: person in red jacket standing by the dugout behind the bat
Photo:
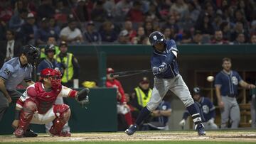
{"type": "Polygon", "coordinates": [[[117,89],[117,114],[119,117],[118,131],[123,131],[125,128],[132,125],[132,114],[130,112],[129,106],[127,105],[122,84],[117,79],[110,77],[110,74],[113,72],[114,70],[111,67],[107,68],[106,87],[114,87],[117,89]],[[126,123],[123,123],[123,125],[121,124],[122,116],[124,116],[126,121],[126,123]]]}

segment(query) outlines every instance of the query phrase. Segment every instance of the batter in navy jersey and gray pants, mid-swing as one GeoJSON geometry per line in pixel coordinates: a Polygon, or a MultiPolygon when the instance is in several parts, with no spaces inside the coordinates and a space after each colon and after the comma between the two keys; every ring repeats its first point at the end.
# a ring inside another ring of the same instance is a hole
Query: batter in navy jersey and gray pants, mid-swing
{"type": "Polygon", "coordinates": [[[138,126],[161,103],[165,94],[171,90],[183,101],[188,112],[193,118],[198,135],[206,135],[201,121],[198,106],[194,104],[192,96],[178,72],[178,49],[174,40],[165,40],[163,33],[155,31],[149,35],[149,41],[153,47],[151,57],[151,69],[154,74],[154,88],[152,96],[144,109],[139,113],[135,124],[130,126],[125,133],[132,135],[138,126]]]}

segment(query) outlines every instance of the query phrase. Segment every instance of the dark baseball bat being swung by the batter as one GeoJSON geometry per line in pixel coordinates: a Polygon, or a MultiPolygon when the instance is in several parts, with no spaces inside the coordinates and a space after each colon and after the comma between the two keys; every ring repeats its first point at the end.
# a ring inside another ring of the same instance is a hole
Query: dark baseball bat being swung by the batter
{"type": "Polygon", "coordinates": [[[152,72],[152,70],[151,69],[149,69],[149,70],[129,70],[129,71],[124,71],[124,72],[114,72],[114,73],[110,74],[110,77],[113,77],[113,78],[128,77],[128,76],[132,76],[135,74],[142,74],[142,73],[146,73],[146,72],[152,72]]]}

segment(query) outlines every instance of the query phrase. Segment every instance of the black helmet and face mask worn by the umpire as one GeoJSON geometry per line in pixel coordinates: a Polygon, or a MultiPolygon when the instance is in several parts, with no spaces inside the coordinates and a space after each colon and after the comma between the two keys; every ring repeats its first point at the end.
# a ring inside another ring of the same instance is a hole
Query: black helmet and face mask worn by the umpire
{"type": "Polygon", "coordinates": [[[23,46],[22,53],[26,55],[28,63],[32,65],[39,59],[39,50],[33,45],[23,46]]]}

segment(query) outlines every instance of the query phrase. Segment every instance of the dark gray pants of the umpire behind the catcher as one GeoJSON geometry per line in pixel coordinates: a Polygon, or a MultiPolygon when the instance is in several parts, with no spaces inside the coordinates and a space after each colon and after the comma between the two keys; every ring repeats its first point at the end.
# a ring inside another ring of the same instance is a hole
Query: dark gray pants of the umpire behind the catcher
{"type": "MultiPolygon", "coordinates": [[[[21,96],[18,94],[18,92],[15,91],[7,91],[9,95],[11,96],[11,102],[16,103],[17,99],[21,96]]],[[[1,119],[4,117],[4,113],[6,112],[6,109],[9,107],[9,102],[6,99],[6,96],[4,96],[4,93],[0,91],[0,122],[1,119]]]]}

